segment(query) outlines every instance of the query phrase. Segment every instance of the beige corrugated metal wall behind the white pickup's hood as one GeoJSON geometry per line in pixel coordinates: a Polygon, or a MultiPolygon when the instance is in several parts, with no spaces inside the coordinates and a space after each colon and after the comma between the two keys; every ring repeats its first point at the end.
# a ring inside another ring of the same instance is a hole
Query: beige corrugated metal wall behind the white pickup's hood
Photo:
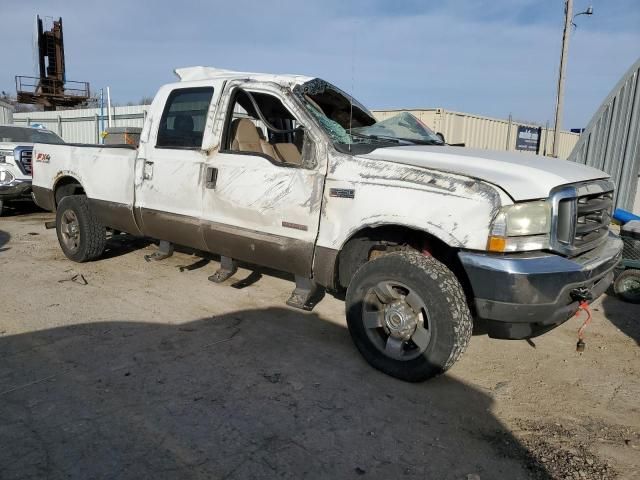
{"type": "MultiPolygon", "coordinates": [[[[454,112],[444,108],[375,110],[373,114],[377,119],[384,120],[400,112],[415,115],[435,132],[441,132],[448,143],[464,143],[470,148],[516,151],[518,126],[539,127],[539,125],[516,121],[509,124],[508,120],[454,112]]],[[[579,137],[577,133],[561,132],[559,150],[561,158],[569,156],[579,137]]],[[[550,153],[552,144],[553,129],[543,128],[540,154],[550,153]]]]}

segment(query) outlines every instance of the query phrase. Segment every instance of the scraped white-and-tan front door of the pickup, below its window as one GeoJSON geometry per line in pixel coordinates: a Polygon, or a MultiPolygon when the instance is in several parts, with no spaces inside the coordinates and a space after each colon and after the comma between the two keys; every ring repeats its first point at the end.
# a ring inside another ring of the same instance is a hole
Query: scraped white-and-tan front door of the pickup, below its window
{"type": "Polygon", "coordinates": [[[208,249],[310,276],[323,165],[293,167],[249,153],[213,154],[207,163],[203,209],[208,249]]]}

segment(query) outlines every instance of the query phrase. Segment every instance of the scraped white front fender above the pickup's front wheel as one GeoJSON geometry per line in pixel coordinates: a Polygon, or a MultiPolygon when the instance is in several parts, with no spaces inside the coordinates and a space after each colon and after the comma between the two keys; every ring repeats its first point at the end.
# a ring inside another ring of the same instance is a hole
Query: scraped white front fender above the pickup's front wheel
{"type": "Polygon", "coordinates": [[[491,221],[511,203],[478,179],[332,152],[318,246],[340,250],[363,228],[397,225],[452,247],[484,250],[491,221]]]}

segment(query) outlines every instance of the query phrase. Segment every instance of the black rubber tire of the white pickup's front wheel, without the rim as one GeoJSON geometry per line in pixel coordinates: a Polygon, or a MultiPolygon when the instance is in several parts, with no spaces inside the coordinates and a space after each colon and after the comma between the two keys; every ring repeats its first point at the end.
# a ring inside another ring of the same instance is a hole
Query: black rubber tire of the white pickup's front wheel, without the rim
{"type": "Polygon", "coordinates": [[[473,320],[456,276],[433,257],[394,252],[364,264],[347,289],[347,324],[356,347],[374,368],[408,382],[421,382],[450,368],[469,344],[473,320]],[[367,292],[379,282],[397,281],[415,292],[428,311],[431,339],[417,358],[397,360],[371,341],[363,322],[367,292]]]}

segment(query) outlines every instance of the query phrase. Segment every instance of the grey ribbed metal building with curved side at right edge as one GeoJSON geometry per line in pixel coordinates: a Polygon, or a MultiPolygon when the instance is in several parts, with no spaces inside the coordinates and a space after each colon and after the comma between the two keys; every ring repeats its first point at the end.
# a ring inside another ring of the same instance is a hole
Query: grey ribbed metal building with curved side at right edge
{"type": "Polygon", "coordinates": [[[617,187],[616,207],[627,210],[634,208],[640,183],[639,77],[640,59],[602,103],[569,156],[611,175],[617,187]]]}

